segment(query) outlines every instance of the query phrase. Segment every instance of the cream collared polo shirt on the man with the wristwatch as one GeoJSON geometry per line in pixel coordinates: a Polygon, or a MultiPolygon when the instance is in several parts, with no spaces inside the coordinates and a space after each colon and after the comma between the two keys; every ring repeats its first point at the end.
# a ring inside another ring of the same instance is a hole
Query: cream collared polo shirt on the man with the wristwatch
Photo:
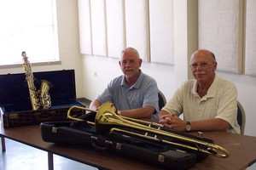
{"type": "Polygon", "coordinates": [[[195,79],[184,82],[163,110],[177,116],[183,113],[183,119],[190,122],[220,118],[230,123],[229,132],[240,133],[240,126],[236,120],[237,90],[235,84],[215,76],[207,94],[202,98],[197,94],[197,86],[195,79]]]}

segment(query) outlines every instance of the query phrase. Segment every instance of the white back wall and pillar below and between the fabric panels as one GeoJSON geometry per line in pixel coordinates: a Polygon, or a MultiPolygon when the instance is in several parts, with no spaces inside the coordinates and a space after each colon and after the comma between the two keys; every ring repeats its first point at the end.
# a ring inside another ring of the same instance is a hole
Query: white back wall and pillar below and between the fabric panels
{"type": "MultiPolygon", "coordinates": [[[[174,0],[174,55],[173,65],[160,65],[143,62],[144,73],[154,77],[166,99],[182,82],[191,77],[188,59],[197,48],[197,19],[195,18],[197,1],[174,0]],[[189,9],[188,9],[189,7],[189,9]],[[195,9],[195,10],[193,10],[195,9]]],[[[161,55],[161,54],[159,54],[161,55]]],[[[84,91],[89,99],[94,99],[106,88],[108,82],[122,72],[119,69],[118,59],[98,56],[83,56],[84,91]]],[[[236,83],[238,100],[244,107],[247,115],[245,134],[256,136],[256,105],[253,101],[256,96],[256,77],[218,72],[219,76],[236,83]],[[253,105],[254,104],[254,105],[253,105]]]]}

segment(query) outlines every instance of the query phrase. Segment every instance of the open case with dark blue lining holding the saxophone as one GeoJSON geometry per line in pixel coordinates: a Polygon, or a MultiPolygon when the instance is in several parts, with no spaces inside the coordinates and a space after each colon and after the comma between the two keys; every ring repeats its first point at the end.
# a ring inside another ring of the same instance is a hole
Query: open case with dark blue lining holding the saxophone
{"type": "MultiPolygon", "coordinates": [[[[25,73],[0,75],[0,114],[3,127],[20,127],[49,121],[66,121],[72,105],[84,106],[76,99],[74,70],[33,72],[34,87],[41,94],[49,93],[48,109],[32,110],[25,73]],[[42,82],[42,80],[47,80],[42,82]],[[48,84],[43,84],[50,82],[48,84]],[[42,88],[43,87],[43,88],[42,88]]],[[[77,111],[78,116],[83,111],[77,111]]]]}

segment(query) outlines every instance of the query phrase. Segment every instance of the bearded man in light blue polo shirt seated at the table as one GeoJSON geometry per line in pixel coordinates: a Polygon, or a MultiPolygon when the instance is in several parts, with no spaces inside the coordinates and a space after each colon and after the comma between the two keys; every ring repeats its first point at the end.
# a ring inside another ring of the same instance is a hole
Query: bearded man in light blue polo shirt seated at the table
{"type": "Polygon", "coordinates": [[[114,78],[108,87],[90,104],[97,109],[104,102],[111,101],[122,116],[150,118],[159,111],[158,88],[154,78],[139,68],[143,59],[135,48],[125,48],[119,59],[124,75],[114,78]]]}

